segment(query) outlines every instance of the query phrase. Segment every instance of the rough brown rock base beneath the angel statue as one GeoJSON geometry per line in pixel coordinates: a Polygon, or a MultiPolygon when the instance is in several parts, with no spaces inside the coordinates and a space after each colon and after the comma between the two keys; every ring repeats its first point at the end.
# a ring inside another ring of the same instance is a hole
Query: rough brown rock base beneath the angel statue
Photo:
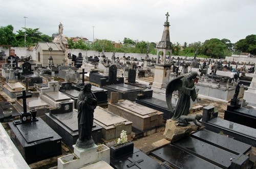
{"type": "Polygon", "coordinates": [[[165,125],[165,130],[163,133],[165,138],[172,142],[177,139],[183,138],[184,136],[189,135],[191,132],[197,131],[199,129],[199,127],[194,125],[193,122],[190,122],[190,124],[188,124],[185,127],[176,126],[177,124],[176,122],[177,121],[174,121],[171,119],[167,120],[165,125]]]}

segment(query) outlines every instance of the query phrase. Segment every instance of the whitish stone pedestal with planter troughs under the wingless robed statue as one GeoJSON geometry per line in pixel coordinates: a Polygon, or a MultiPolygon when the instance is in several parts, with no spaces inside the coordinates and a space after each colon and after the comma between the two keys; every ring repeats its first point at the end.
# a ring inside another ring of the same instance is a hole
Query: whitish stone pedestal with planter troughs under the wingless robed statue
{"type": "Polygon", "coordinates": [[[73,145],[73,148],[73,154],[58,158],[58,168],[80,168],[102,160],[110,163],[110,148],[105,145],[94,145],[89,149],[79,149],[73,145]]]}

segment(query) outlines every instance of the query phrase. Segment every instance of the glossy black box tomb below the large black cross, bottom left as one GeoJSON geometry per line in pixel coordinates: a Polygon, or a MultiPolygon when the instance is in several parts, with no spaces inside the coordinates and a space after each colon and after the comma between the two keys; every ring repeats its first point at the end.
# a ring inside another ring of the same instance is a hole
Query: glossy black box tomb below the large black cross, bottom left
{"type": "Polygon", "coordinates": [[[8,123],[14,142],[27,163],[33,163],[61,154],[61,137],[44,121],[14,125],[8,123]]]}

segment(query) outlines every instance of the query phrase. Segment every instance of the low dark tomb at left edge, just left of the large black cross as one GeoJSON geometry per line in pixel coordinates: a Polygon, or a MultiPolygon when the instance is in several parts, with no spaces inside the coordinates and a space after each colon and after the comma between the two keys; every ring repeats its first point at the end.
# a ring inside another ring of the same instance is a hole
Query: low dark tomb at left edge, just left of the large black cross
{"type": "Polygon", "coordinates": [[[12,103],[8,101],[0,102],[0,122],[7,122],[18,119],[19,112],[13,106],[12,103]]]}

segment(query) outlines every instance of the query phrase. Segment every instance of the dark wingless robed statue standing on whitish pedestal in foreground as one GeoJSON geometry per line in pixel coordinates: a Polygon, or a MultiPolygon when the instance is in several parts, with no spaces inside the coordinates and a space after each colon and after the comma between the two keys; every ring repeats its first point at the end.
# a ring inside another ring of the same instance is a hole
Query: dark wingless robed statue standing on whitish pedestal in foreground
{"type": "Polygon", "coordinates": [[[87,149],[94,146],[92,138],[93,113],[97,106],[97,98],[91,91],[90,82],[84,82],[84,87],[78,95],[78,135],[76,146],[81,149],[87,149]]]}

